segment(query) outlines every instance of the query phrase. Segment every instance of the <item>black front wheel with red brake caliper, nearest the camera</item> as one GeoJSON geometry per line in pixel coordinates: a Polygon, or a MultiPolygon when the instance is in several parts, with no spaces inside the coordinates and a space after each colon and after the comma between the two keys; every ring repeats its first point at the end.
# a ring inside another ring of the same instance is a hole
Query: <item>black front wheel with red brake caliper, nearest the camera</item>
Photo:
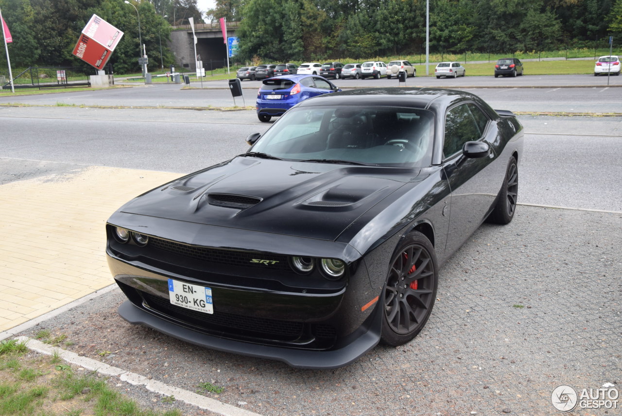
{"type": "Polygon", "coordinates": [[[381,296],[381,341],[397,346],[417,336],[430,317],[439,285],[439,267],[434,246],[419,231],[402,239],[390,264],[381,296]]]}

